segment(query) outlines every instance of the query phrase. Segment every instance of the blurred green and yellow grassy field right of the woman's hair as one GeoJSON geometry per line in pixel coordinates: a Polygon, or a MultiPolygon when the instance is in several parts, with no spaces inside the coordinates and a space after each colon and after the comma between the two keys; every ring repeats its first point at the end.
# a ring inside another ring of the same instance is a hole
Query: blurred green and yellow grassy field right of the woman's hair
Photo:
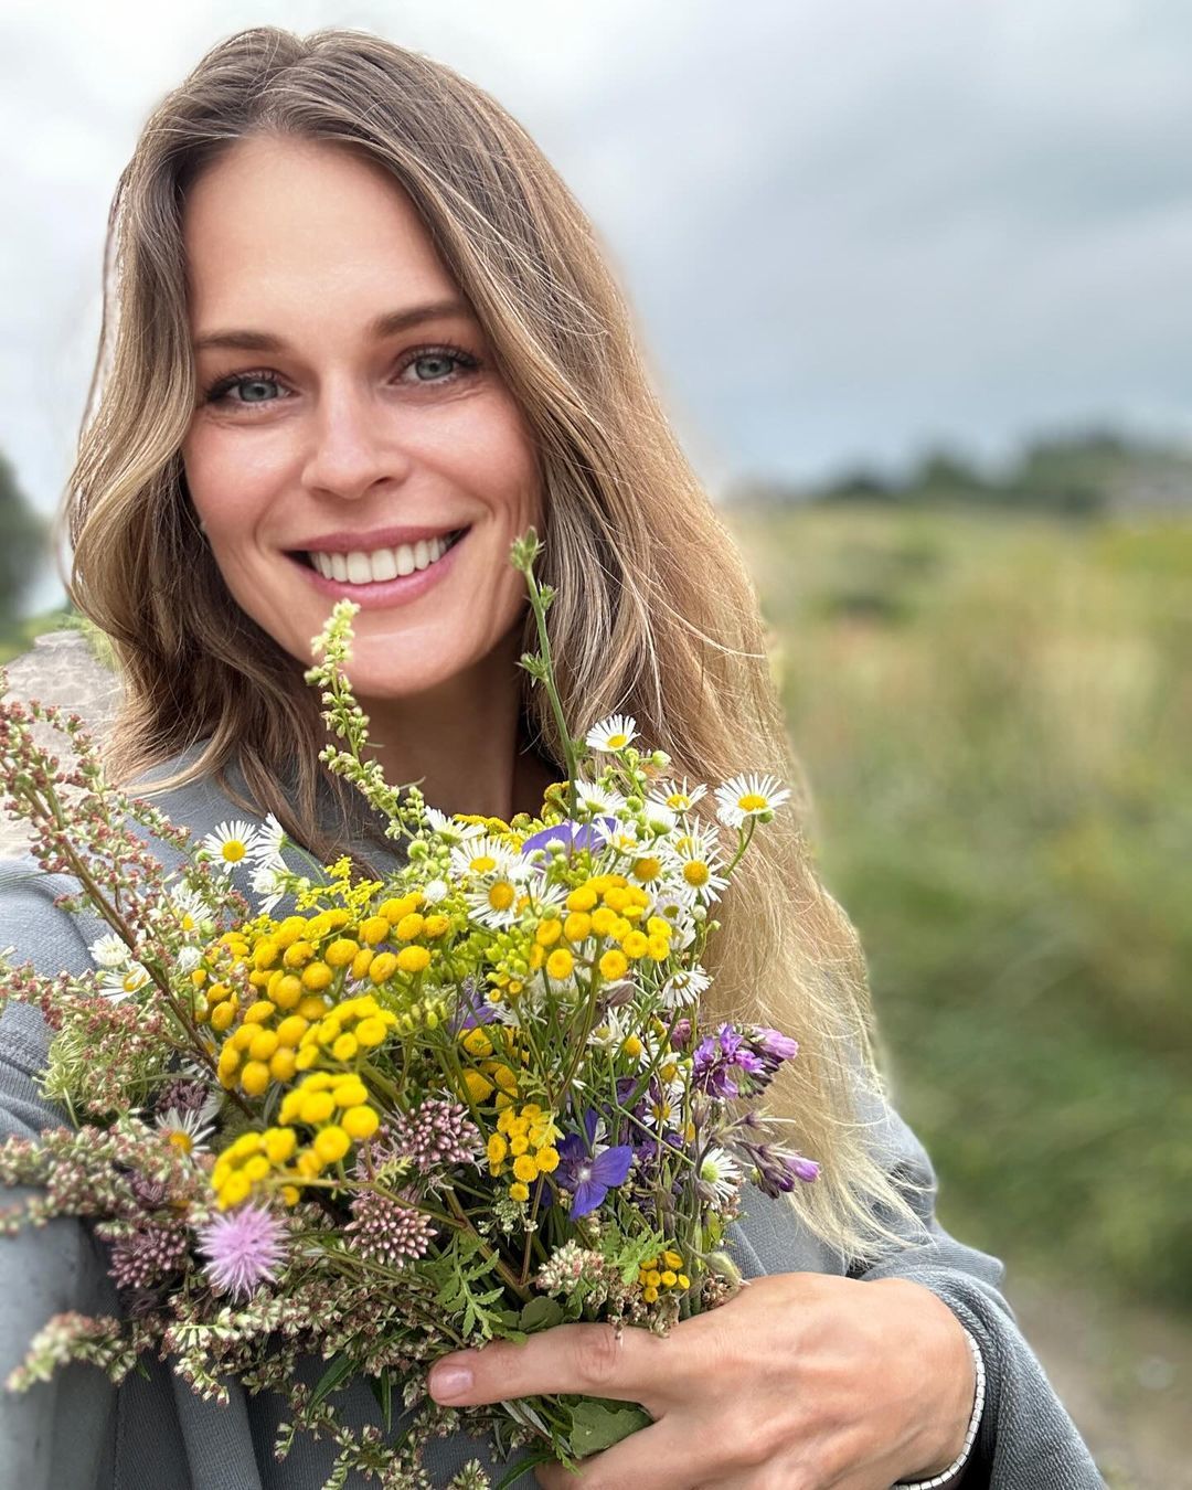
{"type": "Polygon", "coordinates": [[[726,519],[943,1225],[1192,1311],[1192,514],[726,519]]]}

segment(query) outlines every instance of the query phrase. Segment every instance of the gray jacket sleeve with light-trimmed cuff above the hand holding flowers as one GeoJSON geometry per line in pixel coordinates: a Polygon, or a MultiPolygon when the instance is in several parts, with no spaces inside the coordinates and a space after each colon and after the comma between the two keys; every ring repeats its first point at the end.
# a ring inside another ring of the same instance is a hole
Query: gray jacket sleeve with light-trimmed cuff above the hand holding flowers
{"type": "Polygon", "coordinates": [[[985,1363],[985,1408],[971,1457],[955,1484],[964,1490],[1100,1490],[1104,1480],[1001,1293],[1004,1265],[943,1229],[927,1149],[890,1103],[876,1095],[866,1103],[887,1171],[925,1235],[913,1247],[846,1271],[861,1280],[900,1277],[924,1284],[976,1340],[985,1363]]]}

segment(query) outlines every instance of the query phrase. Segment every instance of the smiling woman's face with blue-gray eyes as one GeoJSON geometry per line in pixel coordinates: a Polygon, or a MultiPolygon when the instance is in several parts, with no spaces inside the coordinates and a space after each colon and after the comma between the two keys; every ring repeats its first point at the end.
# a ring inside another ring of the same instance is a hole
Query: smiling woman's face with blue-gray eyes
{"type": "Polygon", "coordinates": [[[192,186],[183,235],[182,459],[232,597],[304,666],[335,599],[358,600],[359,699],[474,669],[524,609],[508,554],[542,530],[538,468],[405,192],[334,146],[244,140],[192,186]]]}

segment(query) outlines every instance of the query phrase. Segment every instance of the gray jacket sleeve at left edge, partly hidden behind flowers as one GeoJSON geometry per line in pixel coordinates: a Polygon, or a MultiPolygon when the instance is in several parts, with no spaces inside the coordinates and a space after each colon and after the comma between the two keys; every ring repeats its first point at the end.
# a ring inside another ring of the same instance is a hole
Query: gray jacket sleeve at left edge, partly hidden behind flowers
{"type": "MultiPolygon", "coordinates": [[[[86,942],[54,895],[72,888],[45,876],[36,861],[0,860],[0,951],[13,967],[39,973],[82,971],[86,942]]],[[[77,890],[77,887],[73,887],[77,890]]],[[[49,1030],[40,1012],[10,1004],[0,1018],[0,1138],[36,1138],[67,1123],[67,1113],[42,1097],[34,1077],[45,1067],[49,1030]]],[[[0,1191],[12,1205],[25,1188],[0,1191]]],[[[4,1380],[52,1314],[115,1314],[100,1243],[83,1222],[57,1217],[0,1237],[0,1487],[89,1490],[113,1483],[116,1387],[89,1365],[70,1365],[49,1381],[12,1393],[4,1380]]]]}

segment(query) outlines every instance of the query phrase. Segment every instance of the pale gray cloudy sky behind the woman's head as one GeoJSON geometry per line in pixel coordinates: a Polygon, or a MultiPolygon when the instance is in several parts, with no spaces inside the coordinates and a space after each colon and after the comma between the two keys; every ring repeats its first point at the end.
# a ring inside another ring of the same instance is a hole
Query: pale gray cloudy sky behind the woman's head
{"type": "Polygon", "coordinates": [[[267,22],[365,27],[517,115],[715,493],[1094,420],[1192,440],[1188,0],[4,0],[0,448],[42,510],[116,176],[201,54],[267,22]]]}

